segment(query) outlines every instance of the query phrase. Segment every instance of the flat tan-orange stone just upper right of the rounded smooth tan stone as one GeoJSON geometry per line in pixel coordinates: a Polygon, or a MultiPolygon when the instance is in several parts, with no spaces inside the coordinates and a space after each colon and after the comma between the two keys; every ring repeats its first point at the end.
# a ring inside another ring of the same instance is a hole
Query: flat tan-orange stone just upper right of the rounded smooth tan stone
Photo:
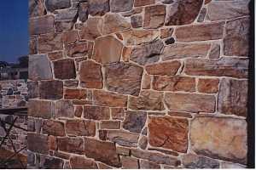
{"type": "Polygon", "coordinates": [[[145,42],[152,42],[160,37],[160,31],[156,30],[129,30],[121,32],[125,45],[139,45],[145,42]]]}

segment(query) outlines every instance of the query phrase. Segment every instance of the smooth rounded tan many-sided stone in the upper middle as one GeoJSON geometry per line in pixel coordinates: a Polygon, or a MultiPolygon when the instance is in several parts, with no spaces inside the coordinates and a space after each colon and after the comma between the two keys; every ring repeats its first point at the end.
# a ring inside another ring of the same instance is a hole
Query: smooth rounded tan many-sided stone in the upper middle
{"type": "Polygon", "coordinates": [[[92,58],[102,64],[118,62],[122,55],[123,44],[113,36],[97,38],[92,58]]]}

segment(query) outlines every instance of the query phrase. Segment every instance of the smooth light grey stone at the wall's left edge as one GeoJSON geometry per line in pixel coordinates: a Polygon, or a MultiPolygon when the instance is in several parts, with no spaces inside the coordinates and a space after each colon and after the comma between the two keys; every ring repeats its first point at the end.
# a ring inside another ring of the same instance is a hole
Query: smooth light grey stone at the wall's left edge
{"type": "Polygon", "coordinates": [[[30,55],[28,70],[31,80],[49,80],[53,77],[49,59],[44,54],[30,55]]]}

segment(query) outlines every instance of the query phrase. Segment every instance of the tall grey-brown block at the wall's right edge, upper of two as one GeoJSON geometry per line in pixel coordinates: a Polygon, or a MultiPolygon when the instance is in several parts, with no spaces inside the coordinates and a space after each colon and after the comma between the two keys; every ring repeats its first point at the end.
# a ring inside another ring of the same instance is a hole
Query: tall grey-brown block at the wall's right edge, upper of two
{"type": "Polygon", "coordinates": [[[247,57],[249,53],[249,23],[248,17],[227,22],[224,37],[224,55],[247,57]]]}

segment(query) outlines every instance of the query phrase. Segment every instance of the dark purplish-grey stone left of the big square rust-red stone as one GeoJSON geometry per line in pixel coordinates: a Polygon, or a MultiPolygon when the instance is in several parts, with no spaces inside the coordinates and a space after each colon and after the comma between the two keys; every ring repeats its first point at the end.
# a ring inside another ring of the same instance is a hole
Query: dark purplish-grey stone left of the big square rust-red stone
{"type": "Polygon", "coordinates": [[[132,133],[141,133],[147,119],[146,112],[126,111],[123,128],[132,133]]]}

